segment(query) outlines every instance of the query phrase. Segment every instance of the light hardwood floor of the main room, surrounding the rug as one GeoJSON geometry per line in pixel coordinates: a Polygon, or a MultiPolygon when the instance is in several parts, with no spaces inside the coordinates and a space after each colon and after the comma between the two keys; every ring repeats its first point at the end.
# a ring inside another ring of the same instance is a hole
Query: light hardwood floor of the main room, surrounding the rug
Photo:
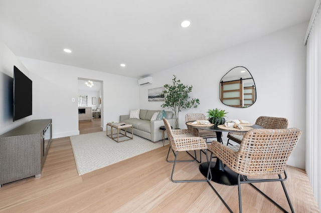
{"type": "MultiPolygon", "coordinates": [[[[90,141],[88,141],[90,142],[90,141]]],[[[3,212],[228,212],[207,182],[173,183],[169,146],[79,176],[69,137],[53,139],[39,178],[0,188],[3,212]]],[[[126,150],[123,150],[126,151],[126,150]]],[[[182,153],[181,157],[188,157],[182,153]]],[[[202,178],[197,162],[178,163],[177,178],[202,178]]],[[[319,212],[304,170],[287,166],[285,181],[296,212],[319,212]]],[[[213,183],[238,212],[237,186],[213,183]]],[[[280,183],[257,184],[290,210],[280,183]]],[[[242,185],[243,212],[281,212],[242,185]]]]}

